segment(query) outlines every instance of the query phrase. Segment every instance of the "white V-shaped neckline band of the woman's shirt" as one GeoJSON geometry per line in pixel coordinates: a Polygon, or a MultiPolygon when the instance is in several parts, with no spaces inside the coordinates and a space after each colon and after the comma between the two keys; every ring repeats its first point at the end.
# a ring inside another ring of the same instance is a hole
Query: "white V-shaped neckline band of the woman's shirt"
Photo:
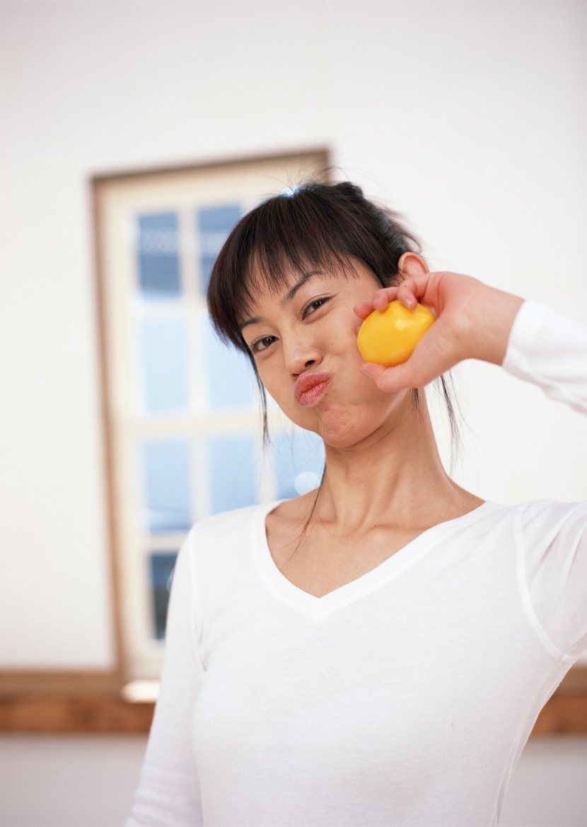
{"type": "Polygon", "coordinates": [[[288,578],[279,571],[271,552],[269,543],[267,542],[267,531],[265,528],[265,519],[271,511],[273,511],[284,500],[274,500],[270,503],[264,503],[255,509],[254,519],[251,523],[252,531],[252,546],[255,550],[255,562],[260,572],[260,576],[265,581],[265,586],[277,597],[282,603],[289,606],[290,609],[297,611],[300,614],[306,614],[309,617],[319,619],[325,617],[327,614],[337,609],[354,603],[360,600],[361,597],[369,595],[370,593],[379,590],[385,583],[388,583],[394,578],[398,577],[403,571],[426,554],[441,538],[446,535],[456,532],[459,529],[474,523],[484,514],[499,506],[490,500],[485,500],[484,503],[477,506],[476,509],[463,514],[461,517],[445,520],[442,523],[427,528],[418,537],[413,538],[405,546],[398,549],[397,552],[388,557],[378,566],[366,571],[365,574],[356,577],[339,586],[337,589],[327,592],[322,597],[311,595],[308,591],[300,589],[295,586],[288,578]]]}

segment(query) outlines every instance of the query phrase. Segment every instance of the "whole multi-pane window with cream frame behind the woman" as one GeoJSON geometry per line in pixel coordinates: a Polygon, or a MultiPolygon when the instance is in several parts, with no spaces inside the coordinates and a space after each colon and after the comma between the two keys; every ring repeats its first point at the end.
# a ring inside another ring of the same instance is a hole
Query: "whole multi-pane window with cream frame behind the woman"
{"type": "Polygon", "coordinates": [[[323,175],[323,152],[94,180],[112,543],[123,668],[158,676],[174,560],[206,514],[317,485],[323,451],[212,331],[205,294],[241,215],[323,175]]]}

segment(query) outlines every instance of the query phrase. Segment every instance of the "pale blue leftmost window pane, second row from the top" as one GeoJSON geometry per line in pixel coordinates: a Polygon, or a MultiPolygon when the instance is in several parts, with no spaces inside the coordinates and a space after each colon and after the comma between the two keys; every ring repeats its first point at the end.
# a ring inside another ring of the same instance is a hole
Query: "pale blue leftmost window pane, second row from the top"
{"type": "Polygon", "coordinates": [[[188,325],[183,318],[150,319],[140,326],[143,404],[148,414],[189,404],[188,325]]]}

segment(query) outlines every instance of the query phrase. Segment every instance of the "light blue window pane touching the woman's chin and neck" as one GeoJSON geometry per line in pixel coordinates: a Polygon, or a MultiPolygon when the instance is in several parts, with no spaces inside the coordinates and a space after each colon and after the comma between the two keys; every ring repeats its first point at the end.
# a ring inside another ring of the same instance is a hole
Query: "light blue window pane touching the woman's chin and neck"
{"type": "Polygon", "coordinates": [[[324,444],[317,434],[296,428],[271,440],[277,496],[297,497],[316,488],[324,471],[324,444]]]}

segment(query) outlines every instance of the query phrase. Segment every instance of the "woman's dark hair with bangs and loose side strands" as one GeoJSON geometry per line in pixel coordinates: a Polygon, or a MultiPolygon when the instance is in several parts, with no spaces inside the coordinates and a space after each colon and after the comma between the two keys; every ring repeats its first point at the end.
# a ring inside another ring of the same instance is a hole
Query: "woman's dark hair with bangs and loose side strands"
{"type": "MultiPolygon", "coordinates": [[[[337,266],[351,273],[351,256],[369,267],[382,287],[389,287],[398,283],[403,253],[420,250],[418,239],[403,227],[396,213],[368,201],[360,187],[349,181],[303,184],[291,194],[268,198],[236,224],[212,268],[208,309],[222,340],[251,360],[260,389],[265,439],[265,388],[240,327],[259,289],[279,292],[288,284],[292,270],[302,274],[308,268],[332,270],[337,266]]],[[[441,385],[456,437],[456,416],[443,376],[441,385]]],[[[418,409],[418,389],[412,391],[412,402],[418,409]]]]}

